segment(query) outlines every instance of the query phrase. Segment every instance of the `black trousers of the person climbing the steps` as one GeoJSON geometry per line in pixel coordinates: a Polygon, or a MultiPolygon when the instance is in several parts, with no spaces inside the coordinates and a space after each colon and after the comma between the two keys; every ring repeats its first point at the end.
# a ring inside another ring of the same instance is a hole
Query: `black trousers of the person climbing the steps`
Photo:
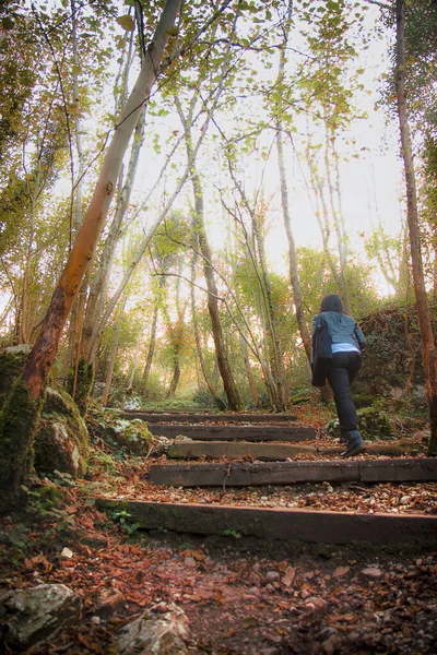
{"type": "Polygon", "coordinates": [[[356,430],[358,421],[352,400],[351,384],[362,366],[362,356],[355,350],[334,353],[327,378],[334,394],[336,414],[340,421],[341,436],[350,430],[356,430]]]}

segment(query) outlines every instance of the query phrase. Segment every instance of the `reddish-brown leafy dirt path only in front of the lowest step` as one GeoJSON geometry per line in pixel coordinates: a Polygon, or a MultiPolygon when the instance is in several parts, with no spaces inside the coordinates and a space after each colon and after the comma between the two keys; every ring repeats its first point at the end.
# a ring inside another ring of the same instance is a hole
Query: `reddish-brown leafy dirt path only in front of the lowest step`
{"type": "MultiPolygon", "coordinates": [[[[1,588],[62,582],[84,598],[82,623],[35,655],[108,654],[117,630],[161,600],[187,614],[193,655],[435,653],[435,552],[232,535],[135,534],[132,541],[95,509],[75,507],[72,531],[44,523],[26,533],[27,557],[2,561],[1,588]]],[[[17,524],[2,527],[10,534],[17,524]]]]}

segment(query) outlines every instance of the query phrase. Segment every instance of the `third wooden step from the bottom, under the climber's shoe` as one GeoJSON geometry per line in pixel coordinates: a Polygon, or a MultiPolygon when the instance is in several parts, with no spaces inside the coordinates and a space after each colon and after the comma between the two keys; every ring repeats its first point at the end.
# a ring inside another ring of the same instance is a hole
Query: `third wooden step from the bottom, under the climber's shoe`
{"type": "MultiPolygon", "coordinates": [[[[322,454],[340,456],[344,446],[318,448],[316,445],[295,445],[293,443],[251,443],[250,441],[175,441],[167,450],[170,460],[200,460],[213,457],[220,460],[240,460],[249,456],[264,462],[281,462],[299,454],[322,454]]],[[[410,443],[368,443],[367,454],[401,457],[406,453],[420,452],[418,446],[410,443]]]]}

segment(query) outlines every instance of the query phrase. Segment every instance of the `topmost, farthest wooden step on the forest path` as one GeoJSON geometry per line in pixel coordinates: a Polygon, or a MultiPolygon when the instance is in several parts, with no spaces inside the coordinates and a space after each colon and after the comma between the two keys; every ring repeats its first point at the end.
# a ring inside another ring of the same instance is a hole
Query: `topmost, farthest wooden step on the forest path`
{"type": "Polygon", "coordinates": [[[142,409],[126,409],[122,418],[141,418],[146,422],[249,422],[249,424],[277,424],[297,420],[293,414],[214,414],[193,412],[144,412],[142,409]]]}

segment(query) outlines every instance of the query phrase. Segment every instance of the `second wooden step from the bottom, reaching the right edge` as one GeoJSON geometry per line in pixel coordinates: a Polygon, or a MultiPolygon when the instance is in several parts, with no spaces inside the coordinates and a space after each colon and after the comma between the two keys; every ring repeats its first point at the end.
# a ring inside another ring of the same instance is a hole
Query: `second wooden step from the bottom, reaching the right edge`
{"type": "Polygon", "coordinates": [[[172,487],[255,487],[294,483],[415,483],[437,480],[437,458],[324,462],[152,464],[150,481],[172,487]]]}

